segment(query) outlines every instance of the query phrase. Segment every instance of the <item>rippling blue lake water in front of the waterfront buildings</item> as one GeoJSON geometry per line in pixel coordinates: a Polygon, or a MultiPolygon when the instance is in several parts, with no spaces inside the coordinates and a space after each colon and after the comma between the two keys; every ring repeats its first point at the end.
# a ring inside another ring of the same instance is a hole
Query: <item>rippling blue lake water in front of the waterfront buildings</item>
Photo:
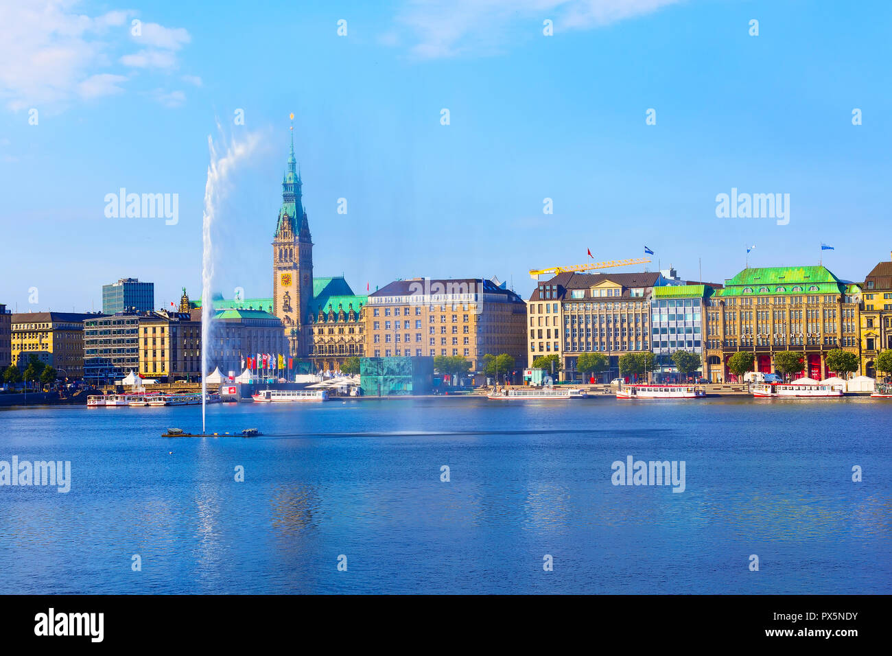
{"type": "Polygon", "coordinates": [[[71,463],[68,494],[0,486],[3,592],[888,594],[890,417],[362,399],[213,405],[209,431],[265,435],[168,439],[201,408],[0,410],[0,461],[71,463]],[[684,461],[684,491],[613,485],[628,456],[684,461]]]}

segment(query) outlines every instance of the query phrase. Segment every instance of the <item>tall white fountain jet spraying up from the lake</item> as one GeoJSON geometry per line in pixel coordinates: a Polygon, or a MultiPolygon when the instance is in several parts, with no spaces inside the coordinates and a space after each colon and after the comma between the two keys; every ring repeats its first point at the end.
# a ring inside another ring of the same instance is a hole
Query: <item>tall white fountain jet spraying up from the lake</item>
{"type": "MultiPolygon", "coordinates": [[[[219,123],[217,128],[222,133],[219,123]]],[[[214,251],[211,227],[219,210],[220,199],[228,190],[229,174],[239,162],[252,154],[259,141],[258,135],[249,132],[241,139],[234,139],[231,144],[227,145],[226,153],[219,156],[217,148],[214,147],[213,138],[208,135],[211,163],[208,165],[208,181],[204,185],[204,212],[202,214],[202,435],[206,432],[208,353],[213,348],[211,323],[214,308],[211,299],[211,285],[214,278],[214,251]]]]}

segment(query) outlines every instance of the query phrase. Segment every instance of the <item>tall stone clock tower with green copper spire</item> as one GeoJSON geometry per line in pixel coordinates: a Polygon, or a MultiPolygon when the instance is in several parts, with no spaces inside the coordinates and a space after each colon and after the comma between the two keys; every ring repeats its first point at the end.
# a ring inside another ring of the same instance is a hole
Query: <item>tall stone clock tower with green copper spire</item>
{"type": "Polygon", "coordinates": [[[273,314],[285,326],[289,354],[305,358],[313,344],[312,328],[306,325],[313,300],[313,242],[301,203],[301,174],[295,170],[296,163],[292,132],[273,238],[273,314]]]}

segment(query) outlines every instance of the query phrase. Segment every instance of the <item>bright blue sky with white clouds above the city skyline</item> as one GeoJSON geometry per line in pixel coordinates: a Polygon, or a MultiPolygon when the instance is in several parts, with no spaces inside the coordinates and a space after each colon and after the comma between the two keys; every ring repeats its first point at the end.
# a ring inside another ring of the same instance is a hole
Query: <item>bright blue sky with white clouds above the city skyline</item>
{"type": "Polygon", "coordinates": [[[216,286],[269,295],[289,112],[315,273],[357,292],[496,275],[527,296],[531,268],[644,245],[651,269],[698,278],[702,258],[722,281],[746,245],[756,266],[815,264],[824,241],[857,280],[892,250],[890,21],[879,1],[4,6],[0,303],[99,309],[122,277],[153,281],[159,307],[197,297],[208,136],[248,132],[216,286]],[[106,218],[120,187],[178,194],[177,225],[106,218]],[[789,224],[717,218],[732,187],[789,194],[789,224]]]}

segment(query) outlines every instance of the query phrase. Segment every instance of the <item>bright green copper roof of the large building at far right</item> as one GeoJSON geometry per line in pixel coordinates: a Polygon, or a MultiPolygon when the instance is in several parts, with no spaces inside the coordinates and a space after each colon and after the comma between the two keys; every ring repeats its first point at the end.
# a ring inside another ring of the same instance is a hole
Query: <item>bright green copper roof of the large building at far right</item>
{"type": "Polygon", "coordinates": [[[845,289],[826,267],[764,267],[740,271],[718,295],[842,294],[845,289]]]}

